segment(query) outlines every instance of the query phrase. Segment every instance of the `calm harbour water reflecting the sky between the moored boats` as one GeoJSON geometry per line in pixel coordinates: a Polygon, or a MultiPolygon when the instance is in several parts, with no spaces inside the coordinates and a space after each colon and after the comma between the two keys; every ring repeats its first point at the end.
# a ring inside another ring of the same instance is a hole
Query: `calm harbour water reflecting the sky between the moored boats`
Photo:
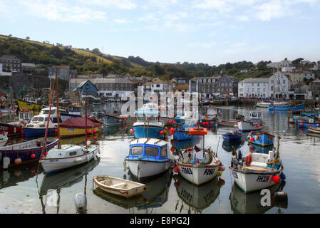
{"type": "MultiPolygon", "coordinates": [[[[108,103],[108,105],[113,105],[108,103]]],[[[110,108],[110,107],[103,107],[110,108]]],[[[249,118],[251,107],[222,106],[222,119],[234,119],[239,113],[249,118]]],[[[231,145],[223,142],[222,134],[235,128],[220,127],[208,130],[206,147],[217,151],[226,170],[221,177],[196,187],[182,177],[167,172],[146,183],[148,189],[143,195],[133,199],[122,199],[105,194],[93,186],[93,177],[109,175],[134,180],[123,161],[128,155],[133,135],[129,130],[133,119],[127,125],[106,127],[94,140],[100,143],[100,158],[76,169],[46,177],[37,164],[14,167],[0,171],[0,213],[76,213],[74,198],[77,193],[87,196],[88,213],[141,213],[141,214],[185,214],[185,213],[319,213],[320,212],[320,138],[309,136],[304,131],[289,126],[291,113],[270,113],[261,108],[264,130],[282,135],[280,155],[284,163],[285,185],[274,185],[271,191],[287,192],[287,204],[272,202],[270,207],[260,204],[262,195],[253,192],[244,195],[234,184],[229,170],[231,145]],[[39,170],[38,170],[39,169],[39,170]],[[38,175],[36,175],[38,170],[38,175]]],[[[259,150],[248,145],[247,134],[242,142],[234,145],[241,147],[244,155],[249,150],[259,150]]],[[[24,140],[12,138],[10,140],[24,140]]],[[[84,137],[63,139],[62,143],[81,143],[84,137]]],[[[171,147],[171,142],[168,140],[171,147]]],[[[183,142],[172,143],[183,147],[183,142]]],[[[274,140],[277,145],[277,139],[274,140]]]]}

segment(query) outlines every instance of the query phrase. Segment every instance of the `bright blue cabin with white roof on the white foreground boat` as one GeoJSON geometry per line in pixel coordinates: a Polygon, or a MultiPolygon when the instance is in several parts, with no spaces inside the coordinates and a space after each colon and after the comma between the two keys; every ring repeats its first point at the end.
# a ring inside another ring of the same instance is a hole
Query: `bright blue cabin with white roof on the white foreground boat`
{"type": "Polygon", "coordinates": [[[167,161],[167,142],[156,138],[139,138],[131,141],[128,160],[141,158],[155,162],[167,161]]]}

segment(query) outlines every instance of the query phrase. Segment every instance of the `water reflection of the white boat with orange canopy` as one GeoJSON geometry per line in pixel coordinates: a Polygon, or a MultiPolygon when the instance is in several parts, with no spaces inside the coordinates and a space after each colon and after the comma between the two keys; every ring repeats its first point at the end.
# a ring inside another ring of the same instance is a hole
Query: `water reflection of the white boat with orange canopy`
{"type": "MultiPolygon", "coordinates": [[[[181,199],[181,206],[179,212],[182,209],[187,209],[188,214],[191,211],[195,213],[201,213],[203,209],[209,207],[220,194],[220,188],[224,185],[224,180],[220,177],[215,177],[203,185],[197,186],[188,182],[183,177],[178,175],[175,182],[177,195],[181,199]],[[187,204],[185,207],[184,204],[187,204]]],[[[180,200],[177,202],[175,211],[179,209],[180,200]]]]}

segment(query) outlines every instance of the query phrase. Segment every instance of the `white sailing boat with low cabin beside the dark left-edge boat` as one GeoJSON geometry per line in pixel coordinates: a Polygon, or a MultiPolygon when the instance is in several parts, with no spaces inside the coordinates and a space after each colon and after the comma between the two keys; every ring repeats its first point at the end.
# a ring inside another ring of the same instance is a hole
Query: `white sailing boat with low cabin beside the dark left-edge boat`
{"type": "Polygon", "coordinates": [[[61,145],[61,149],[58,146],[53,147],[39,162],[44,172],[52,173],[90,162],[93,158],[96,160],[98,152],[100,153],[100,146],[96,142],[88,141],[87,147],[66,144],[61,145]]]}

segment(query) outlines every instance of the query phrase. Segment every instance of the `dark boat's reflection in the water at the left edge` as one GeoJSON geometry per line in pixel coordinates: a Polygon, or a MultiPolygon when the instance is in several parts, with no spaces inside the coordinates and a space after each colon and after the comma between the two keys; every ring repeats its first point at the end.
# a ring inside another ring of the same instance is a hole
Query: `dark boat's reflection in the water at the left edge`
{"type": "Polygon", "coordinates": [[[8,170],[0,170],[0,189],[4,187],[11,187],[17,185],[19,182],[24,182],[30,178],[36,176],[38,173],[43,172],[41,167],[38,167],[38,163],[30,163],[26,165],[20,165],[11,167],[8,170]]]}

